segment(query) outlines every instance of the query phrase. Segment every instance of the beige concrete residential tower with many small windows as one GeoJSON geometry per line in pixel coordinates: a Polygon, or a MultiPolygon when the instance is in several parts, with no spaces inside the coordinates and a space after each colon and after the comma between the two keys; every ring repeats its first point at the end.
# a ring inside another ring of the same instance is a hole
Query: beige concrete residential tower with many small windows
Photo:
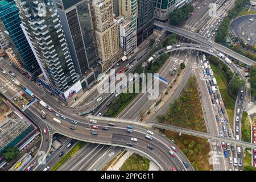
{"type": "Polygon", "coordinates": [[[123,56],[119,47],[118,23],[114,20],[113,3],[112,0],[93,0],[88,5],[96,53],[102,60],[102,72],[106,72],[123,56]]]}

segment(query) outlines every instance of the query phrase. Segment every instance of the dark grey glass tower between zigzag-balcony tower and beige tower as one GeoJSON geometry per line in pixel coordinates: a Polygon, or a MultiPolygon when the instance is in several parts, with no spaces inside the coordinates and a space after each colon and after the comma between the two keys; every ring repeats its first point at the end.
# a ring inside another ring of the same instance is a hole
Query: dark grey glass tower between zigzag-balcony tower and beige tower
{"type": "Polygon", "coordinates": [[[59,0],[56,4],[76,72],[83,75],[97,60],[87,2],[59,0]]]}

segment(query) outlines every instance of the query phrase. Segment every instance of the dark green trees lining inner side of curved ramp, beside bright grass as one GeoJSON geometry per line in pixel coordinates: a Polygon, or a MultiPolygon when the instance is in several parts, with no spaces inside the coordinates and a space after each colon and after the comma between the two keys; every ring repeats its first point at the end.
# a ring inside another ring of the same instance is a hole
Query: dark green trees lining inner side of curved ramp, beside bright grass
{"type": "Polygon", "coordinates": [[[226,76],[228,77],[228,82],[230,82],[229,85],[229,92],[232,94],[232,96],[236,97],[238,92],[240,92],[240,88],[243,86],[244,81],[240,79],[238,76],[234,76],[234,73],[230,70],[228,65],[223,63],[218,57],[210,56],[209,61],[212,62],[217,67],[221,68],[221,71],[223,71],[226,76]]]}

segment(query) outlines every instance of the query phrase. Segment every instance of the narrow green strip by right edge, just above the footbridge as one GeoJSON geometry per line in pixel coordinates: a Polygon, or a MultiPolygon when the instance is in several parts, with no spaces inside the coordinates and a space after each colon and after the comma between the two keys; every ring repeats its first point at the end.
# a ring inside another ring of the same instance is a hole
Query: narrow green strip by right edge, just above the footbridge
{"type": "Polygon", "coordinates": [[[243,112],[242,115],[242,140],[245,142],[251,142],[251,123],[247,117],[247,113],[243,112]]]}

